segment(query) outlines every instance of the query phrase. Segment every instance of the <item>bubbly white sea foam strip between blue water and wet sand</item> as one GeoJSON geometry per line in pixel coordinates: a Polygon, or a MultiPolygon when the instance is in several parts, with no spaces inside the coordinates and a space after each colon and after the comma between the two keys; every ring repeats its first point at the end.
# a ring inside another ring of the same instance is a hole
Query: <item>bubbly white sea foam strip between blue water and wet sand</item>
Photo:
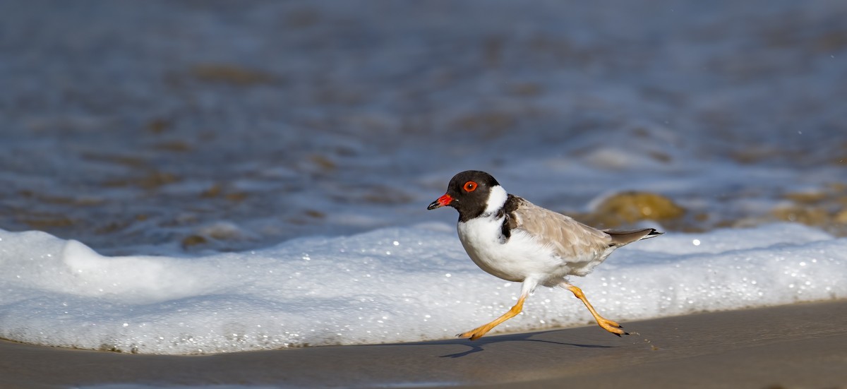
{"type": "MultiPolygon", "coordinates": [[[[572,281],[623,321],[844,298],[845,248],[800,225],[669,233],[572,281]]],[[[502,314],[519,290],[477,269],[443,224],[197,258],[105,257],[0,230],[0,337],[50,346],[189,354],[441,339],[502,314]]],[[[495,332],[590,320],[569,293],[541,288],[495,332]]]]}

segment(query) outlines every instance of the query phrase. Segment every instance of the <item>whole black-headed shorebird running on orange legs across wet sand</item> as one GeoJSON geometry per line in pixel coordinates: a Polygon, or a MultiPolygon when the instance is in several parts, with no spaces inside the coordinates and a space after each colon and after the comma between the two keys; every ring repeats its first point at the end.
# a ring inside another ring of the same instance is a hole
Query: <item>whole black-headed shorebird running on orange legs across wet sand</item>
{"type": "Polygon", "coordinates": [[[488,173],[468,170],[454,175],[444,196],[427,209],[450,206],[459,211],[462,246],[480,269],[503,280],[521,282],[521,294],[506,314],[458,337],[479,339],[523,309],[536,286],[559,286],[579,298],[604,330],[628,335],[621,325],[597,314],[568,275],[587,275],[618,247],[662,235],[643,230],[597,230],[570,217],[508,194],[488,173]]]}

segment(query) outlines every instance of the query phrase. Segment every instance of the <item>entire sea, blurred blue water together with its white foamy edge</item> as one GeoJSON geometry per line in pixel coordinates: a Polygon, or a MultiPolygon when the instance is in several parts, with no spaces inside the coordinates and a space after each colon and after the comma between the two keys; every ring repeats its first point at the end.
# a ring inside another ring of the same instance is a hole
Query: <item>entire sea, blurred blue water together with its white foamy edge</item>
{"type": "MultiPolygon", "coordinates": [[[[600,220],[635,320],[843,298],[847,3],[0,3],[0,337],[219,353],[450,337],[457,171],[600,220]],[[695,244],[696,243],[696,244],[695,244]]],[[[539,290],[499,331],[590,320],[539,290]]]]}

